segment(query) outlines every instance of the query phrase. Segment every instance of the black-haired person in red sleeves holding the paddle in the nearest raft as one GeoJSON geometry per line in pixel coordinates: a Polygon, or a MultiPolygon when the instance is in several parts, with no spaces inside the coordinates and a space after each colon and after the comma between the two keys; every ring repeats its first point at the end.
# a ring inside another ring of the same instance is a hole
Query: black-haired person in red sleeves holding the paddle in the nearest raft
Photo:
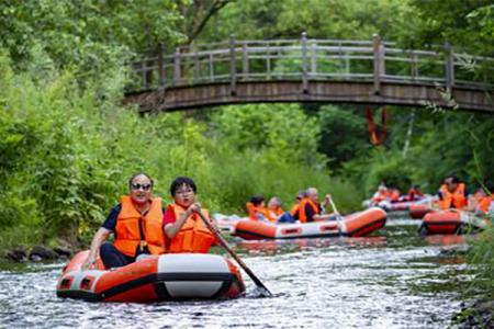
{"type": "Polygon", "coordinates": [[[197,202],[197,193],[194,181],[188,177],[178,177],[171,182],[170,194],[175,203],[168,205],[162,222],[166,252],[206,253],[216,240],[198,214],[215,225],[207,211],[197,202]]]}

